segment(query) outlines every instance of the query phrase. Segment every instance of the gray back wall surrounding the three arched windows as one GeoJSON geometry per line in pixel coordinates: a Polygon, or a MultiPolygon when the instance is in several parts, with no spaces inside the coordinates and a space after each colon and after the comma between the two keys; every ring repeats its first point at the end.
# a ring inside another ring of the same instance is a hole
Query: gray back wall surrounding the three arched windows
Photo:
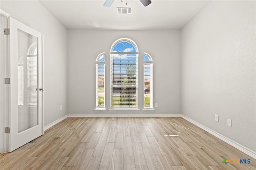
{"type": "Polygon", "coordinates": [[[129,114],[94,112],[95,61],[106,56],[106,108],[110,108],[110,47],[120,38],[132,39],[139,50],[139,108],[143,109],[143,52],[154,60],[154,112],[132,114],[180,114],[180,30],[93,31],[68,30],[68,113],[129,114]]]}

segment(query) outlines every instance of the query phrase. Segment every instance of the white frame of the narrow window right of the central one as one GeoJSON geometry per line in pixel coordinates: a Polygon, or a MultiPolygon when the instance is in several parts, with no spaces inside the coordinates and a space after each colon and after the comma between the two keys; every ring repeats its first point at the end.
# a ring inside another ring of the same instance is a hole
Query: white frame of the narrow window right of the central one
{"type": "Polygon", "coordinates": [[[142,111],[154,111],[153,107],[153,64],[151,55],[148,53],[143,53],[143,109],[142,111]],[[149,61],[145,61],[145,55],[148,57],[149,61]],[[145,66],[150,65],[150,107],[145,107],[145,66]]]}

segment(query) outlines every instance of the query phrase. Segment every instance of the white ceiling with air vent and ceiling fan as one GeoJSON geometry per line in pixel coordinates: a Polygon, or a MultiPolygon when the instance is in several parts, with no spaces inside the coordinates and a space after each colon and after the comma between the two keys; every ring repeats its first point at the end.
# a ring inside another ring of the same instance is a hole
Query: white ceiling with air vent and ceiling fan
{"type": "Polygon", "coordinates": [[[149,30],[181,29],[211,0],[39,0],[67,29],[149,30]],[[127,5],[126,5],[127,2],[127,5]],[[117,14],[117,7],[132,7],[132,14],[117,14]]]}

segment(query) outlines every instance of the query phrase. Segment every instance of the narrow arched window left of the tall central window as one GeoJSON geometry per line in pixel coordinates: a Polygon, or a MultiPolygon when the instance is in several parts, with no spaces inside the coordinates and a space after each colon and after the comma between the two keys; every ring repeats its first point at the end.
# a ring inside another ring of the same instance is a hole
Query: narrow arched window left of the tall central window
{"type": "Polygon", "coordinates": [[[105,53],[96,59],[96,109],[105,109],[105,53]]]}

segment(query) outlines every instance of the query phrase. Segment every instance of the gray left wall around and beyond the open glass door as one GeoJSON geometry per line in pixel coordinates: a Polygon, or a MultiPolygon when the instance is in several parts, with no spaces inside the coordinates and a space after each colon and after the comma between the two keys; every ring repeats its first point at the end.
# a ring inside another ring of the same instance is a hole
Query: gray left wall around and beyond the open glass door
{"type": "Polygon", "coordinates": [[[68,113],[68,31],[38,1],[1,1],[12,18],[44,34],[44,126],[68,113]],[[60,110],[60,105],[63,109],[60,110]]]}

